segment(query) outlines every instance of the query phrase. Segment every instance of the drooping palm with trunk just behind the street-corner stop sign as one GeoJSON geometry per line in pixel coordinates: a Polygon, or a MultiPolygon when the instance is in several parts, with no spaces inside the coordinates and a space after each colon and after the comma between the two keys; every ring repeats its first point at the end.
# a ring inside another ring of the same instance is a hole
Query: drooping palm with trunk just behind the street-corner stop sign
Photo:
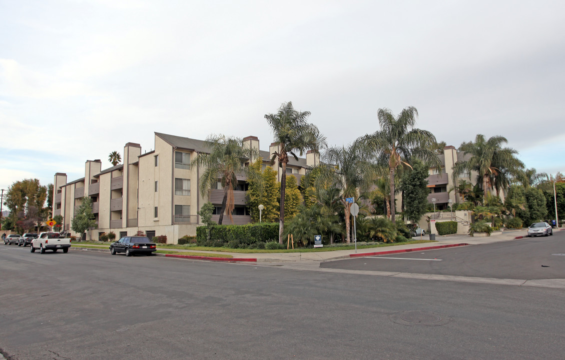
{"type": "Polygon", "coordinates": [[[350,214],[351,203],[347,197],[358,197],[358,190],[366,191],[371,179],[377,174],[376,166],[364,160],[362,146],[359,142],[348,147],[331,147],[324,152],[324,162],[315,166],[314,186],[316,188],[337,188],[340,190],[340,201],[345,209],[346,242],[351,242],[350,214]]]}

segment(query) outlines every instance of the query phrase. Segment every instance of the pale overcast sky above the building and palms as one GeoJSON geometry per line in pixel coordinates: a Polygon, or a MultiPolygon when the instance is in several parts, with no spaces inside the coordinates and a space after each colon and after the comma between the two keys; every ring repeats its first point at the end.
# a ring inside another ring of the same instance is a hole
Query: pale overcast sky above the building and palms
{"type": "Polygon", "coordinates": [[[0,0],[0,187],[84,177],[154,132],[272,142],[292,101],[330,145],[377,110],[565,172],[565,2],[0,0]]]}

